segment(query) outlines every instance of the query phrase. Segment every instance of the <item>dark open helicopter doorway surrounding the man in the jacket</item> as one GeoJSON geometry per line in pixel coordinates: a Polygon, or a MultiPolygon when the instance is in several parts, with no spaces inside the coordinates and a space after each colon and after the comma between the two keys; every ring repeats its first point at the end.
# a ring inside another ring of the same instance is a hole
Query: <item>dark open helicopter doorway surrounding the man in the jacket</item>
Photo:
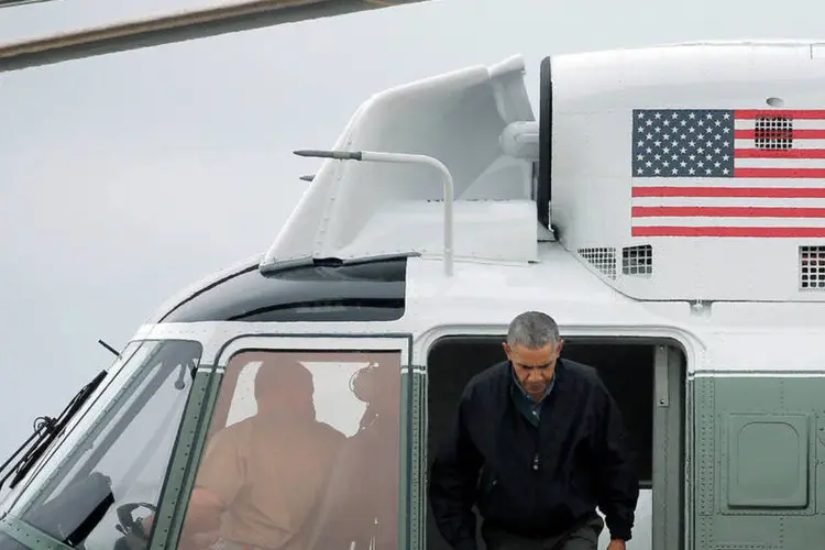
{"type": "MultiPolygon", "coordinates": [[[[444,436],[464,385],[506,360],[505,336],[450,336],[427,358],[427,468],[444,436]]],[[[565,338],[562,358],[591,365],[617,402],[638,450],[640,495],[628,550],[682,550],[684,546],[684,369],[681,351],[640,339],[565,338]]],[[[426,505],[426,550],[449,550],[426,505]]],[[[479,521],[481,524],[481,521],[479,521]]],[[[480,549],[484,548],[479,529],[480,549]]],[[[606,548],[605,529],[598,548],[606,548]]]]}

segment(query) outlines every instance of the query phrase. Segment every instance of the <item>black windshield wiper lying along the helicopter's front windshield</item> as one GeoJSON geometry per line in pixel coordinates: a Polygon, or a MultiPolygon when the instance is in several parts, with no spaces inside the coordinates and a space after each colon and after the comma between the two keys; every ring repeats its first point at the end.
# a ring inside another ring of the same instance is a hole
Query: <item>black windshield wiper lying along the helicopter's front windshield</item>
{"type": "Polygon", "coordinates": [[[97,376],[95,376],[91,382],[80,388],[77,395],[72,398],[68,405],[66,405],[66,408],[63,409],[63,413],[61,413],[57,418],[41,416],[34,420],[34,433],[29,436],[29,439],[26,439],[25,442],[20,446],[18,450],[14,451],[14,453],[9,457],[6,462],[3,462],[2,465],[0,465],[0,473],[6,472],[2,479],[0,479],[0,488],[2,488],[3,484],[12,475],[14,477],[9,484],[9,488],[14,488],[14,486],[20,483],[25,474],[28,474],[32,466],[37,462],[37,460],[43,457],[43,453],[46,452],[48,446],[52,444],[52,442],[64,430],[64,428],[66,428],[66,425],[72,420],[77,411],[80,410],[84,403],[86,403],[86,399],[89,398],[92,392],[95,392],[95,389],[100,385],[100,382],[106,377],[106,374],[107,371],[101,371],[97,376]],[[26,449],[28,451],[23,454],[23,457],[21,457],[19,461],[11,465],[14,458],[26,449]]]}

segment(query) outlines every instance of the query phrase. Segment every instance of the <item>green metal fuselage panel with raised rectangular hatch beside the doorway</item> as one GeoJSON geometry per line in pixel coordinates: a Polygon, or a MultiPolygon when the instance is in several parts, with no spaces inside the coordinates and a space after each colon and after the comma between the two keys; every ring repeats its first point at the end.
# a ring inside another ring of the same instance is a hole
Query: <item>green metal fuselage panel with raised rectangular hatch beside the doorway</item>
{"type": "Polygon", "coordinates": [[[695,548],[822,546],[825,378],[703,377],[693,392],[695,548]]]}

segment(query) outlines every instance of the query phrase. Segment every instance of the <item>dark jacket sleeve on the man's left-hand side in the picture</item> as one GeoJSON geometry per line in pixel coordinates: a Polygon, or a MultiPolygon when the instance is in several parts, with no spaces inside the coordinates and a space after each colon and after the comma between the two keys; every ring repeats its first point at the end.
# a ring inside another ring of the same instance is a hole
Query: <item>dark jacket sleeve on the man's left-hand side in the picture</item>
{"type": "Polygon", "coordinates": [[[466,427],[469,406],[470,392],[465,389],[436,453],[429,482],[436,525],[455,550],[476,549],[473,505],[482,459],[466,427]]]}

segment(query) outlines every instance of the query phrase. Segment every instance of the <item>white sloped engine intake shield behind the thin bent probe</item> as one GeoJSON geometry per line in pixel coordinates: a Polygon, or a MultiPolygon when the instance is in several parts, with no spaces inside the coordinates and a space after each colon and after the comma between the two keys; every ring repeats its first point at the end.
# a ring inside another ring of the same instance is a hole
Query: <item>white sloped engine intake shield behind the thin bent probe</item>
{"type": "MultiPolygon", "coordinates": [[[[492,67],[470,67],[383,91],[361,106],[332,148],[432,156],[452,174],[457,212],[496,220],[493,209],[503,210],[497,201],[530,199],[531,162],[510,157],[501,144],[508,124],[535,120],[522,74],[524,62],[516,56],[492,67]],[[490,204],[464,207],[468,200],[490,204]]],[[[327,161],[264,263],[430,252],[430,234],[420,233],[417,217],[396,217],[382,228],[404,235],[395,241],[376,240],[371,221],[393,211],[426,211],[425,205],[442,195],[438,173],[428,167],[327,161]]],[[[536,217],[517,208],[508,216],[522,212],[524,219],[512,234],[494,242],[477,239],[472,250],[457,250],[457,255],[532,261],[536,217]],[[521,230],[526,223],[531,228],[528,242],[521,230]]],[[[490,226],[510,231],[504,223],[490,226]]],[[[457,238],[463,229],[459,217],[457,238]]]]}

